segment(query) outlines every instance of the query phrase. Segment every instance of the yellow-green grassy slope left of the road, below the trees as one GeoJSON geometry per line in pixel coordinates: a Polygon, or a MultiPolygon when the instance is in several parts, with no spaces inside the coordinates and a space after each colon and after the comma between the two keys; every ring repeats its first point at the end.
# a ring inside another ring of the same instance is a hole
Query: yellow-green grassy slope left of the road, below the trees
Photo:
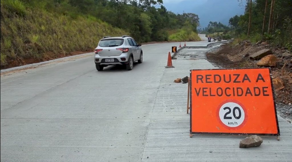
{"type": "Polygon", "coordinates": [[[128,32],[93,16],[51,13],[20,0],[1,0],[1,68],[24,59],[57,58],[73,51],[91,51],[102,36],[128,32]]]}

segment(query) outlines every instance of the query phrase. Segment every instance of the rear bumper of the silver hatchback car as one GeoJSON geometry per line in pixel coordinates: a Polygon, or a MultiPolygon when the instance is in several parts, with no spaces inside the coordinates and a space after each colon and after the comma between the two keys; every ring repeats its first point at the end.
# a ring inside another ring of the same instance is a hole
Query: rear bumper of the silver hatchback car
{"type": "Polygon", "coordinates": [[[94,62],[98,65],[125,65],[128,63],[128,55],[126,53],[121,54],[120,56],[99,56],[98,54],[95,54],[94,62]],[[114,61],[106,62],[105,59],[108,59],[108,58],[112,58],[114,59],[114,61]]]}

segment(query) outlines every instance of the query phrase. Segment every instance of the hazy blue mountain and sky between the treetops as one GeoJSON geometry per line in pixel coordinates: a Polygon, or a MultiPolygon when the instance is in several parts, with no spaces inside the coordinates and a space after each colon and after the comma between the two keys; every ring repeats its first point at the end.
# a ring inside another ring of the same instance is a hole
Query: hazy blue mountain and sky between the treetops
{"type": "Polygon", "coordinates": [[[239,6],[237,0],[164,0],[164,6],[173,13],[199,15],[201,28],[210,21],[228,25],[231,17],[244,13],[244,6],[239,6]]]}

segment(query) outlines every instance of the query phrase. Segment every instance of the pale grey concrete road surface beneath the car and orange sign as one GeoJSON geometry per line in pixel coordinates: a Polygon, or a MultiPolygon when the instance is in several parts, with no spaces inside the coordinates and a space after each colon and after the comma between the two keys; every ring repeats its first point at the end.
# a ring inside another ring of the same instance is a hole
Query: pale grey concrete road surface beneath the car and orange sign
{"type": "Polygon", "coordinates": [[[164,68],[173,45],[143,45],[131,71],[98,72],[91,53],[2,74],[1,161],[292,161],[292,125],[281,117],[281,140],[263,137],[258,148],[239,149],[243,136],[190,138],[187,84],[173,80],[216,67],[201,49],[164,68]]]}

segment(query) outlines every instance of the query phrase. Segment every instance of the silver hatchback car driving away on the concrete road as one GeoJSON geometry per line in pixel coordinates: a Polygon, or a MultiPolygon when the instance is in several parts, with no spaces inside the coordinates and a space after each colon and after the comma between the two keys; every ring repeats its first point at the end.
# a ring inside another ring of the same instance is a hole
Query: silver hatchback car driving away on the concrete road
{"type": "Polygon", "coordinates": [[[133,63],[143,61],[141,44],[128,36],[111,37],[106,36],[100,39],[94,50],[96,70],[101,71],[109,65],[126,65],[127,70],[133,69],[133,63]]]}

